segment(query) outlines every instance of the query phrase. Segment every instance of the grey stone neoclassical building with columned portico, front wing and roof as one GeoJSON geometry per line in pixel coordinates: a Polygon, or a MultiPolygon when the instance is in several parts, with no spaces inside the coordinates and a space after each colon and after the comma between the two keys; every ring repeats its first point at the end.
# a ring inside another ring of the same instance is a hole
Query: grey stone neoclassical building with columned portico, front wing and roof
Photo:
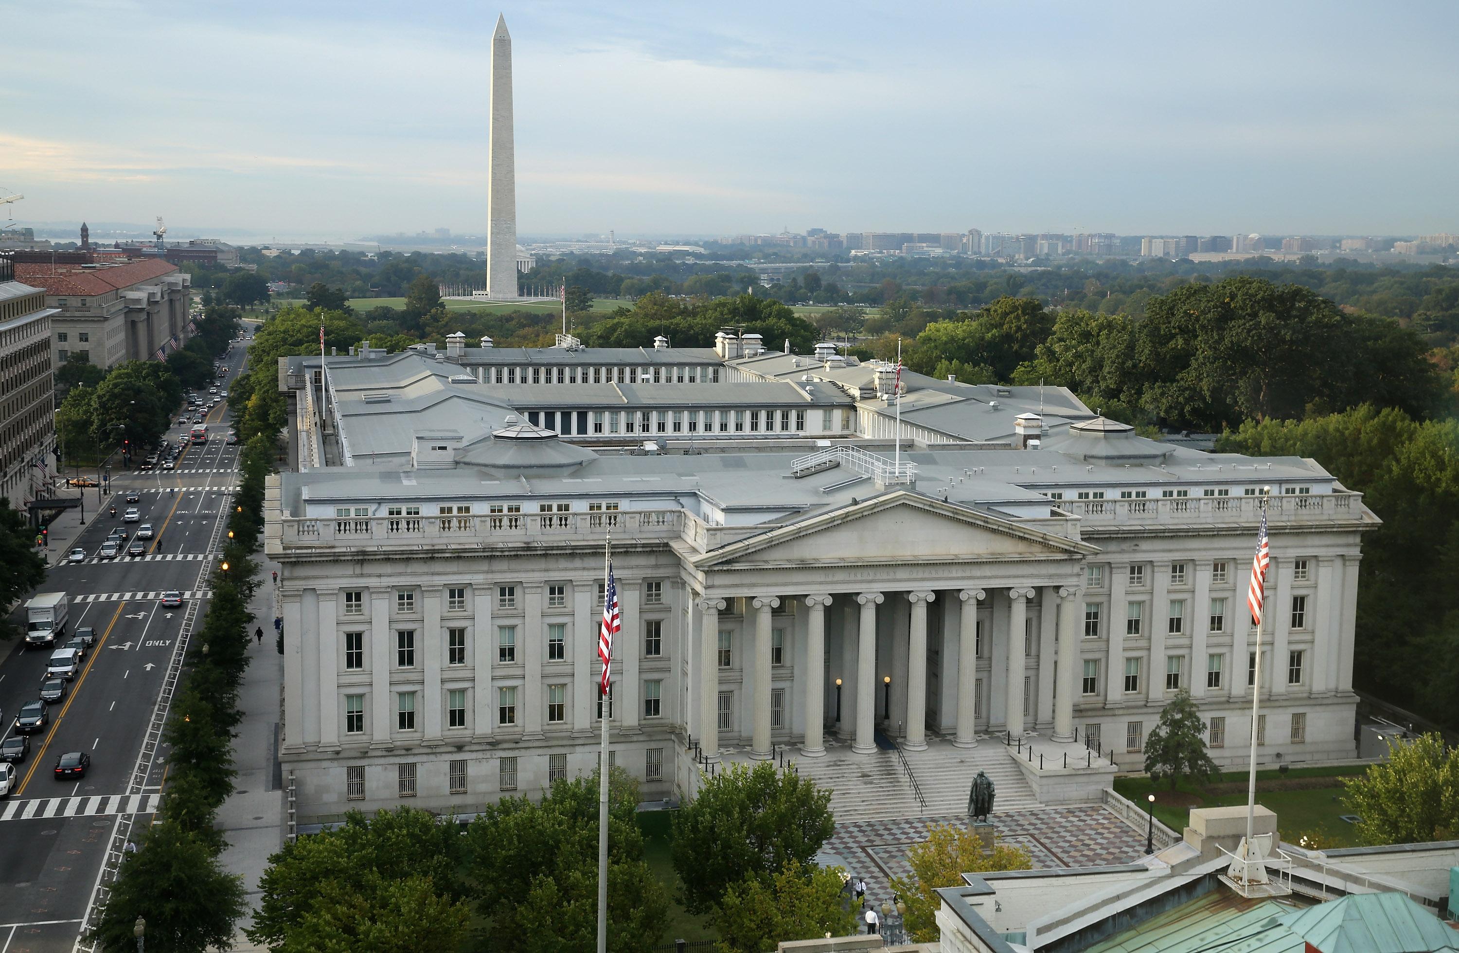
{"type": "MultiPolygon", "coordinates": [[[[608,537],[613,752],[646,798],[690,795],[696,757],[870,753],[877,734],[909,750],[1078,737],[1134,766],[1180,689],[1212,756],[1243,762],[1245,585],[1268,490],[1263,760],[1354,752],[1357,566],[1376,518],[1315,461],[1173,448],[1062,391],[1059,416],[1015,414],[1032,396],[999,409],[945,382],[969,414],[1017,417],[1013,433],[900,454],[856,435],[626,452],[528,423],[506,385],[483,396],[419,363],[439,400],[420,400],[417,371],[398,390],[374,381],[369,400],[327,394],[322,426],[301,419],[293,438],[321,445],[301,460],[349,444],[350,466],[270,486],[282,759],[305,822],[401,797],[471,811],[591,771],[608,537]]],[[[378,366],[340,358],[327,374],[378,366]]],[[[299,397],[301,417],[317,413],[318,394],[299,397]]],[[[856,397],[854,426],[886,400],[856,397]]]]}

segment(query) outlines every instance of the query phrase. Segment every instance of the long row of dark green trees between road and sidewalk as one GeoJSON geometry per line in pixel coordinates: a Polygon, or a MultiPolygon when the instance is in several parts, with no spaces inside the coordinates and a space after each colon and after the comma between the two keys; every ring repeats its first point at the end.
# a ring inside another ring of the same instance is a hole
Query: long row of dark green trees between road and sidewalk
{"type": "MultiPolygon", "coordinates": [[[[201,953],[231,949],[233,924],[247,911],[242,879],[219,863],[228,846],[213,823],[233,791],[233,728],[248,667],[248,600],[258,585],[251,557],[263,533],[270,444],[254,438],[239,457],[241,489],[228,518],[222,560],[209,576],[212,598],[188,644],[190,668],[172,702],[163,740],[168,787],[156,823],[142,829],[124,855],[107,906],[90,933],[98,949],[130,953],[133,924],[147,921],[153,949],[201,953]]],[[[317,947],[322,949],[322,947],[317,947]]]]}

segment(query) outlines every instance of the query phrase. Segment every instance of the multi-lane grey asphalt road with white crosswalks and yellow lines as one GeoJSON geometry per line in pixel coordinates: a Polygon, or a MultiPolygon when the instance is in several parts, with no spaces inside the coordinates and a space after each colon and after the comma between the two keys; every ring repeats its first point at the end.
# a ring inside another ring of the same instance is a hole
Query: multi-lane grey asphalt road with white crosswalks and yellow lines
{"type": "MultiPolygon", "coordinates": [[[[236,344],[235,352],[228,360],[229,381],[242,362],[236,344]]],[[[90,626],[96,645],[66,696],[50,706],[50,724],[31,736],[18,785],[0,800],[0,953],[71,950],[118,813],[146,814],[163,790],[165,749],[152,765],[143,797],[111,797],[128,792],[187,610],[187,604],[163,609],[160,593],[201,590],[216,556],[207,553],[209,541],[226,492],[238,479],[238,447],[225,442],[225,404],[214,407],[209,414],[212,439],[188,447],[175,470],[114,471],[117,517],[105,508],[99,515],[88,514],[89,524],[74,543],[88,559],[54,566],[41,585],[41,591],[71,597],[67,638],[90,626]],[[140,502],[125,503],[127,490],[137,490],[140,502]],[[137,522],[123,522],[128,505],[140,511],[137,522]],[[96,557],[112,528],[124,525],[134,533],[143,522],[156,533],[144,556],[96,557]],[[54,778],[64,752],[90,755],[83,779],[54,778]]],[[[174,426],[168,436],[175,442],[187,429],[174,426]]],[[[198,609],[201,616],[204,606],[198,609]]],[[[23,611],[12,620],[25,629],[23,611]]],[[[50,649],[26,651],[20,642],[9,642],[0,644],[0,654],[4,738],[15,731],[20,705],[38,698],[50,649]]],[[[139,820],[146,823],[147,817],[139,820]]]]}

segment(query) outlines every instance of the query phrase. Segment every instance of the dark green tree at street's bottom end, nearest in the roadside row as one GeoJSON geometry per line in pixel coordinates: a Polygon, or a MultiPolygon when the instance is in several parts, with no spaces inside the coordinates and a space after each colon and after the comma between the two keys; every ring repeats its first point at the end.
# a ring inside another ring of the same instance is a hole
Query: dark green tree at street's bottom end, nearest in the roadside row
{"type": "Polygon", "coordinates": [[[160,820],[125,855],[89,938],[107,953],[133,953],[133,925],[147,921],[153,953],[233,949],[233,924],[247,911],[242,877],[223,871],[197,835],[160,820]]]}

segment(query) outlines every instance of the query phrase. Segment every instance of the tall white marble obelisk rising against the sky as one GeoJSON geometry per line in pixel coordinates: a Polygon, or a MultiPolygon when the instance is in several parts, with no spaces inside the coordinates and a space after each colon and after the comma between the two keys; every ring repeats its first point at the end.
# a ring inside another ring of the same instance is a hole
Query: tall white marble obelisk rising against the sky
{"type": "Polygon", "coordinates": [[[512,36],[506,18],[492,34],[492,114],[487,120],[486,296],[516,298],[516,159],[512,142],[512,36]]]}

